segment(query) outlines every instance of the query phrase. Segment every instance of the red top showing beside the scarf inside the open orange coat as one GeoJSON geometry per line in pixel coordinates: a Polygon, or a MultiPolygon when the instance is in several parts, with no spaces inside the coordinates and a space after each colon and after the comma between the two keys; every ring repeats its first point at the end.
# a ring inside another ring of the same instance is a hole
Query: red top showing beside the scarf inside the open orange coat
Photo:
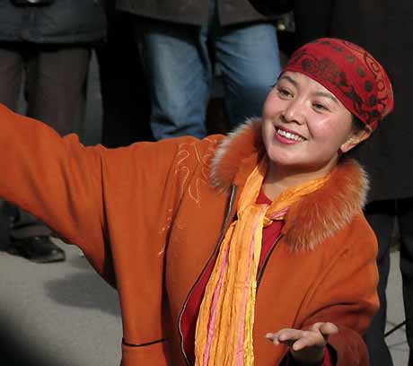
{"type": "MultiPolygon", "coordinates": [[[[270,205],[271,200],[269,200],[261,190],[259,192],[259,196],[257,197],[257,203],[270,205]]],[[[274,248],[276,240],[283,227],[283,223],[284,222],[281,221],[273,222],[262,231],[262,247],[261,255],[259,257],[259,269],[264,263],[266,257],[268,257],[268,255],[270,254],[271,249],[274,248]]],[[[204,274],[201,274],[197,285],[189,296],[187,307],[185,308],[182,314],[182,318],[180,319],[180,329],[182,330],[184,341],[183,346],[190,364],[195,363],[195,330],[197,327],[199,308],[201,306],[202,298],[206,289],[206,283],[208,282],[212,270],[214,269],[217,254],[218,253],[215,253],[215,256],[209,262],[208,266],[206,266],[204,274]]]]}

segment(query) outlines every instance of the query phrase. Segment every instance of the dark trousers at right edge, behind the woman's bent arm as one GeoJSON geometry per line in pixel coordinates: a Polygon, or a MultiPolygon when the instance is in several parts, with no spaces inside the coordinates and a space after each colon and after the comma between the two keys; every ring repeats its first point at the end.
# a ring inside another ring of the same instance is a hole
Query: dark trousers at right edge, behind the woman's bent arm
{"type": "Polygon", "coordinates": [[[410,349],[409,366],[413,365],[413,198],[373,202],[367,205],[365,216],[379,241],[377,266],[379,268],[378,294],[381,307],[365,333],[365,343],[372,366],[391,366],[391,354],[384,342],[386,325],[386,286],[390,271],[390,248],[397,220],[400,232],[400,271],[406,316],[407,340],[410,349]]]}

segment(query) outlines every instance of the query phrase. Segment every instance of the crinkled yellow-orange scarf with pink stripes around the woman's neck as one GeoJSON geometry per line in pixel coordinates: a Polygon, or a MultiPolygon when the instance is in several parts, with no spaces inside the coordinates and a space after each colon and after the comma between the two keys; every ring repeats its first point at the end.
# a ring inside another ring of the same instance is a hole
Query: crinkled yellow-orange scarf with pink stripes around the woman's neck
{"type": "Polygon", "coordinates": [[[257,272],[262,230],[283,220],[288,207],[328,179],[287,189],[271,205],[256,204],[267,159],[252,171],[238,204],[238,219],[225,233],[199,309],[195,335],[196,366],[252,366],[257,272]]]}

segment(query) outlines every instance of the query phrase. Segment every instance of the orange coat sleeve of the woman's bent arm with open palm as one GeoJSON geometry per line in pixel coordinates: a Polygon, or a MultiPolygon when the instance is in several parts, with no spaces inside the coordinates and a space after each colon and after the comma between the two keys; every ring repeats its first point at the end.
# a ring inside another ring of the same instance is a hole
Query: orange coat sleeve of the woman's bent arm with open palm
{"type": "Polygon", "coordinates": [[[377,241],[360,213],[343,240],[325,242],[329,270],[319,279],[305,306],[309,314],[302,328],[316,322],[332,322],[338,334],[329,338],[337,354],[337,365],[368,366],[369,358],[362,335],[378,309],[377,241]],[[360,234],[363,233],[363,235],[360,234]],[[333,252],[339,251],[339,256],[333,252]],[[329,258],[334,258],[329,263],[329,258]]]}

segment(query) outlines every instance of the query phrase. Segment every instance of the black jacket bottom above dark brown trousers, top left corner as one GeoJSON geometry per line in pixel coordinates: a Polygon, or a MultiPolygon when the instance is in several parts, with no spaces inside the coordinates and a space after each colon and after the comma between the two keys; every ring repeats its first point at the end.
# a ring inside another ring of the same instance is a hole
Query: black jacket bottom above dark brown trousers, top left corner
{"type": "Polygon", "coordinates": [[[103,0],[55,0],[27,6],[0,0],[0,41],[89,43],[103,39],[105,31],[103,0]]]}

